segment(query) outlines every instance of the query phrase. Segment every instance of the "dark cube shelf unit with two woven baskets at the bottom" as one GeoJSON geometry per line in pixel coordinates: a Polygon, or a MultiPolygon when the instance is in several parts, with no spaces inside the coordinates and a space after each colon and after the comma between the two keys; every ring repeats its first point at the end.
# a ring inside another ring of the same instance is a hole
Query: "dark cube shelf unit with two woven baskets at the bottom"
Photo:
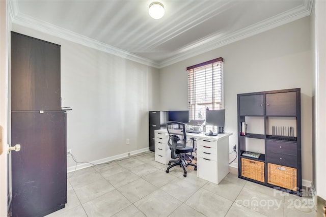
{"type": "Polygon", "coordinates": [[[302,196],[300,88],[238,94],[237,103],[239,178],[302,196]]]}

